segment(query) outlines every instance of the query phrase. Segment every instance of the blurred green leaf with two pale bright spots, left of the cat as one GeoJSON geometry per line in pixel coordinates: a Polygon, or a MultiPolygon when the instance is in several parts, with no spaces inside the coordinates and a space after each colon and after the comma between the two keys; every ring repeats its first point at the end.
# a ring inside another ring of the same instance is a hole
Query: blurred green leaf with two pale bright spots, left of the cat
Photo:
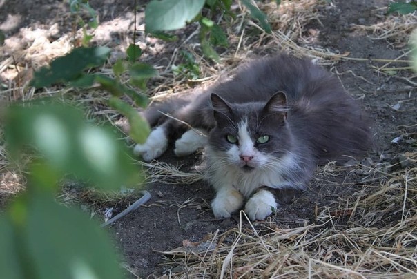
{"type": "Polygon", "coordinates": [[[114,132],[84,123],[79,110],[59,103],[8,107],[6,143],[16,156],[34,147],[57,176],[73,174],[104,189],[136,185],[139,174],[114,132]]]}

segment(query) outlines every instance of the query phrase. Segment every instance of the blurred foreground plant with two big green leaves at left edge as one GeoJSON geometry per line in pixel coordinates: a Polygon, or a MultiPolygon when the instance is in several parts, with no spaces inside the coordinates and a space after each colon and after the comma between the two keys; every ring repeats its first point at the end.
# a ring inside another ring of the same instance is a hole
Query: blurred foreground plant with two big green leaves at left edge
{"type": "Polygon", "coordinates": [[[0,218],[1,277],[122,278],[104,231],[54,198],[63,177],[101,189],[140,183],[115,133],[52,99],[10,105],[2,122],[13,161],[32,160],[26,192],[0,218]]]}

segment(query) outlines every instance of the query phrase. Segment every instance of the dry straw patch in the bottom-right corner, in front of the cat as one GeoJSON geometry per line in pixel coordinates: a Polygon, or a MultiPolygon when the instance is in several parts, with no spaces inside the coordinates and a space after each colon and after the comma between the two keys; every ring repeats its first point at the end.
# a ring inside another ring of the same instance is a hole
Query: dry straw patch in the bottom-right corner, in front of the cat
{"type": "Polygon", "coordinates": [[[238,228],[204,240],[208,249],[165,252],[184,269],[171,278],[415,278],[417,167],[378,183],[303,227],[270,218],[255,229],[242,211],[238,228]]]}

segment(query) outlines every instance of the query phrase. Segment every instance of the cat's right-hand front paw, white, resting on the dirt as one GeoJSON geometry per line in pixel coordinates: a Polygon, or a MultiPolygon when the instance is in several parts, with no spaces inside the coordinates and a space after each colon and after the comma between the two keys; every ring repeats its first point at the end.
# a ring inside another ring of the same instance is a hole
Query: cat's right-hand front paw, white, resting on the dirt
{"type": "Polygon", "coordinates": [[[275,196],[269,191],[260,190],[247,201],[244,211],[251,220],[264,220],[277,208],[275,196]]]}

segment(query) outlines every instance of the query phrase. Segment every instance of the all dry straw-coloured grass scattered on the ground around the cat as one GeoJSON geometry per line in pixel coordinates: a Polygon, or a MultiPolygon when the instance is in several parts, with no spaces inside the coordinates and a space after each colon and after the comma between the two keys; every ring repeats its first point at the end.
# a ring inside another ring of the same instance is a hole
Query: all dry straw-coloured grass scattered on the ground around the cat
{"type": "MultiPolygon", "coordinates": [[[[271,14],[270,21],[275,30],[271,35],[264,34],[245,12],[237,15],[227,31],[231,46],[222,53],[220,65],[213,65],[200,55],[198,43],[193,40],[197,33],[191,32],[186,39],[188,43],[175,49],[168,63],[153,61],[159,65],[160,76],[155,79],[149,94],[153,98],[164,98],[197,84],[213,83],[226,73],[233,72],[242,61],[278,50],[308,56],[327,65],[342,59],[369,61],[367,57],[351,58],[315,45],[318,34],[315,30],[306,30],[305,25],[311,21],[320,23],[318,9],[322,8],[322,1],[282,2],[279,9],[272,2],[260,6],[271,14]],[[246,20],[249,24],[245,25],[246,20]],[[247,35],[256,29],[258,36],[247,35]],[[179,63],[180,49],[186,49],[197,57],[197,63],[201,65],[201,79],[188,81],[184,76],[173,76],[171,65],[179,63]]],[[[414,14],[388,17],[376,25],[356,25],[354,28],[369,32],[376,39],[393,40],[396,46],[400,46],[407,41],[411,29],[416,27],[415,17],[414,14]]],[[[40,40],[28,40],[28,48],[0,59],[3,61],[0,63],[0,78],[9,87],[0,92],[0,100],[25,101],[37,96],[62,96],[76,104],[86,105],[88,116],[115,123],[119,114],[108,109],[103,101],[106,94],[97,87],[87,92],[72,88],[46,88],[35,96],[35,90],[27,87],[31,70],[67,52],[66,47],[70,44],[70,37],[62,37],[59,51],[51,54],[45,52],[45,48],[52,50],[58,45],[42,45],[40,40]]],[[[146,44],[146,41],[140,43],[146,44]]],[[[2,55],[6,54],[0,53],[2,55]]],[[[385,65],[393,62],[383,57],[380,59],[385,65]]],[[[111,63],[108,63],[99,71],[110,74],[110,68],[111,63]]],[[[417,155],[409,154],[409,157],[415,165],[417,155]]],[[[202,174],[198,172],[182,172],[180,167],[166,163],[141,164],[148,169],[148,182],[191,184],[202,179],[202,174]]],[[[332,171],[324,169],[323,172],[330,174],[332,171]]],[[[24,181],[20,174],[10,170],[3,143],[0,145],[0,173],[0,196],[19,192],[24,181]]],[[[171,274],[171,278],[416,278],[417,168],[390,172],[387,167],[373,167],[369,168],[369,176],[374,177],[373,187],[364,184],[360,189],[360,183],[357,183],[360,191],[336,200],[331,207],[318,208],[313,224],[278,226],[270,218],[260,223],[261,227],[255,228],[242,213],[238,228],[213,234],[199,243],[187,243],[188,246],[206,249],[164,252],[175,256],[166,264],[184,267],[183,272],[171,274]]],[[[95,194],[88,196],[91,203],[94,203],[94,198],[110,200],[108,196],[95,194]]],[[[64,200],[86,198],[70,196],[70,192],[62,195],[64,200]]]]}

